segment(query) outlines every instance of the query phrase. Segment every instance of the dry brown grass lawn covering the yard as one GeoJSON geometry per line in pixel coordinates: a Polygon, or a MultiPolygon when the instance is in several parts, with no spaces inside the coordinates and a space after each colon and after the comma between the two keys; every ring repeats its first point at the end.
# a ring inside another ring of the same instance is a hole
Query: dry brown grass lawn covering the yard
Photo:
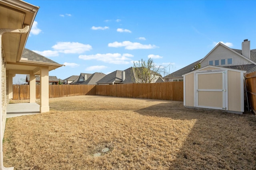
{"type": "Polygon", "coordinates": [[[74,96],[7,119],[4,165],[18,170],[256,169],[256,117],[182,102],[74,96]],[[110,151],[95,157],[104,147],[110,151]]]}

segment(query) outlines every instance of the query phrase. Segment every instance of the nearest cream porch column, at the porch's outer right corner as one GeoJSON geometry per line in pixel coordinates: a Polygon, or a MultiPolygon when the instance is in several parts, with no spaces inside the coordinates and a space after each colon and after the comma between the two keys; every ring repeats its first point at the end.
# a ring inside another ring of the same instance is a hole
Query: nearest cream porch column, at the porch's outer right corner
{"type": "Polygon", "coordinates": [[[49,69],[41,67],[40,70],[40,113],[50,111],[49,107],[49,69]]]}

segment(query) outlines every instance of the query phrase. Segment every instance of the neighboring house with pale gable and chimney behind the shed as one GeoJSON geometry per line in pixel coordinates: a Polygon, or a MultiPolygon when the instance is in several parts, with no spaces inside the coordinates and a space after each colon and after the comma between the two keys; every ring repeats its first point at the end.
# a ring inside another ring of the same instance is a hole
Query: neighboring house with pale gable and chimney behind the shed
{"type": "Polygon", "coordinates": [[[248,39],[242,42],[242,50],[231,49],[222,43],[218,43],[203,59],[165,76],[165,81],[183,81],[182,75],[193,71],[196,63],[201,63],[201,67],[213,65],[245,70],[247,74],[256,71],[256,49],[250,49],[248,39]]]}

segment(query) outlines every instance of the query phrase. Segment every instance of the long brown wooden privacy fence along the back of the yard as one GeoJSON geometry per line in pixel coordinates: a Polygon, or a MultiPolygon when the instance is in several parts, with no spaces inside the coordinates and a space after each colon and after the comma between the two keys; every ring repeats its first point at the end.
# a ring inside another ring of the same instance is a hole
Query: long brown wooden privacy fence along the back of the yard
{"type": "MultiPolygon", "coordinates": [[[[49,85],[49,98],[79,95],[183,101],[183,82],[114,85],[49,85]]],[[[40,85],[36,85],[40,98],[40,85]]],[[[13,100],[30,99],[29,85],[13,85],[13,100]]]]}

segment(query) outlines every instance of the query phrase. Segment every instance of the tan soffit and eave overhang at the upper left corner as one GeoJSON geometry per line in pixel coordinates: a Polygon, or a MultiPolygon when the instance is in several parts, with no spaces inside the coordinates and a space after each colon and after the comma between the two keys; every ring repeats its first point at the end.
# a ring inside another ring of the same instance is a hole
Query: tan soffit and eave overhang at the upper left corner
{"type": "Polygon", "coordinates": [[[21,0],[0,0],[0,29],[22,29],[24,24],[30,25],[28,33],[2,35],[2,54],[7,62],[20,61],[38,9],[38,6],[21,0]]]}

